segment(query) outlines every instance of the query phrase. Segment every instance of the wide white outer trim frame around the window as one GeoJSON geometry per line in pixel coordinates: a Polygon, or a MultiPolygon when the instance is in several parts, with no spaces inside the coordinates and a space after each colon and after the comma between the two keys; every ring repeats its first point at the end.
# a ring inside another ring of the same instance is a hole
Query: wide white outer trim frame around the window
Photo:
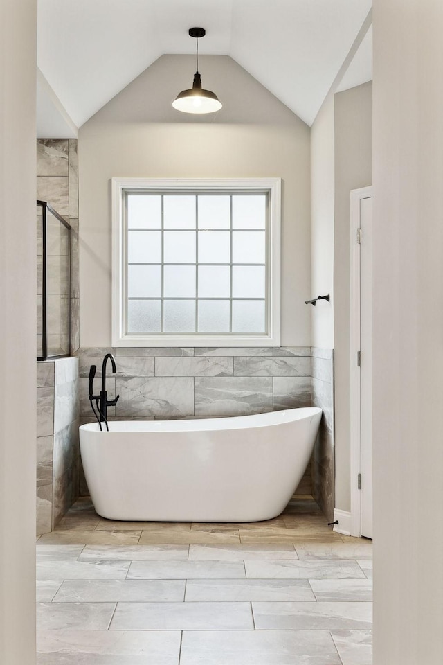
{"type": "Polygon", "coordinates": [[[111,178],[112,219],[112,346],[280,346],[280,178],[111,178]],[[139,335],[125,332],[126,302],[126,238],[125,193],[140,190],[156,190],[159,193],[179,191],[183,194],[199,194],[205,191],[235,193],[251,191],[269,193],[269,236],[266,256],[266,333],[182,333],[161,332],[139,335]]]}

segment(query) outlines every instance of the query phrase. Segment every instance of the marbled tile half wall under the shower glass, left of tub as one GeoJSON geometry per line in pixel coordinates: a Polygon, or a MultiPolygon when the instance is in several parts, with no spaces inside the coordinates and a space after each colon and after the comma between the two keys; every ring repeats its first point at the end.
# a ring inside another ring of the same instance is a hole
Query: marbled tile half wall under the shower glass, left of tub
{"type": "Polygon", "coordinates": [[[37,362],[37,535],[78,498],[79,398],[78,358],[37,362]]]}

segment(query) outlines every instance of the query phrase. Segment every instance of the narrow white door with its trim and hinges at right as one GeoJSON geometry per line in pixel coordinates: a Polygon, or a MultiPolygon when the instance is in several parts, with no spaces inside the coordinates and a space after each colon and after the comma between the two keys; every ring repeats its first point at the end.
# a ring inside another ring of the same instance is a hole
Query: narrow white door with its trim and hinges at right
{"type": "Polygon", "coordinates": [[[372,538],[372,188],[351,192],[351,529],[372,538]]]}

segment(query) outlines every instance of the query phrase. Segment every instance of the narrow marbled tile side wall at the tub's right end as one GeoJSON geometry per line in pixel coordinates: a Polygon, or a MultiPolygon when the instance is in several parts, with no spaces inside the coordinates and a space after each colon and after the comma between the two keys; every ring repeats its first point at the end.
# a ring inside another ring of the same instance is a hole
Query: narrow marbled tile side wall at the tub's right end
{"type": "Polygon", "coordinates": [[[311,459],[312,495],[329,522],[334,520],[334,351],[311,349],[312,404],[323,409],[311,459]]]}

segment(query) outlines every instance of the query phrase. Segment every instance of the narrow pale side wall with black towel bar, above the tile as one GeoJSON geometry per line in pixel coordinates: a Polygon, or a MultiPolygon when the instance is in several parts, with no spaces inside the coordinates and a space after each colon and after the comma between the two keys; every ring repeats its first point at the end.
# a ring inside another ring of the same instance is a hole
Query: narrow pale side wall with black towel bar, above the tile
{"type": "Polygon", "coordinates": [[[334,348],[334,97],[328,96],[311,127],[311,294],[331,301],[309,307],[311,346],[334,348]]]}

